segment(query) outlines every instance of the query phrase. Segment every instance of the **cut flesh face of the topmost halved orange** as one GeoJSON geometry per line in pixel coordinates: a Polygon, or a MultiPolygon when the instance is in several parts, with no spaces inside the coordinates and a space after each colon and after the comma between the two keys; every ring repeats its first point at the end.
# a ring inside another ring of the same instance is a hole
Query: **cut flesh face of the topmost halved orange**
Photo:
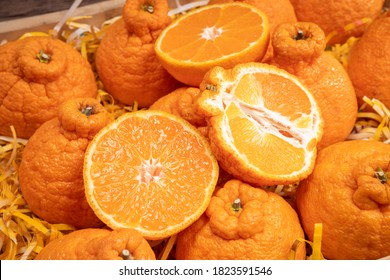
{"type": "Polygon", "coordinates": [[[177,60],[203,62],[219,59],[240,52],[258,40],[263,34],[262,23],[262,18],[248,8],[215,7],[193,15],[190,20],[183,19],[178,26],[167,31],[160,47],[177,60]],[[237,26],[245,26],[245,30],[237,29],[237,26]],[[194,38],[193,34],[199,36],[194,38]]]}

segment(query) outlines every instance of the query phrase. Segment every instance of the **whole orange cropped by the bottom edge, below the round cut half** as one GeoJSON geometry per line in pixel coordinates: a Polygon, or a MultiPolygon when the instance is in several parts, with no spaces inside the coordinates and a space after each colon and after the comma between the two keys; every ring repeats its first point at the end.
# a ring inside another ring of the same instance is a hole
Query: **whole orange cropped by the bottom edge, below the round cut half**
{"type": "Polygon", "coordinates": [[[47,244],[35,260],[155,260],[149,243],[133,229],[88,228],[47,244]]]}

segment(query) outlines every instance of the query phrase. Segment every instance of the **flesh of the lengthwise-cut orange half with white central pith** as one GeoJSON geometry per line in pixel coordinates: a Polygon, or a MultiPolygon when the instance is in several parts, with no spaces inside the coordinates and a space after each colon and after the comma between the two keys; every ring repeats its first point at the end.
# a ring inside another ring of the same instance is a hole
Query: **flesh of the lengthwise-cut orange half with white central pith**
{"type": "Polygon", "coordinates": [[[274,74],[246,74],[234,89],[236,98],[225,100],[225,125],[234,146],[249,162],[270,174],[281,174],[280,166],[286,174],[302,168],[305,161],[303,146],[306,145],[303,134],[310,129],[310,100],[297,85],[283,80],[284,77],[274,74]],[[267,86],[262,87],[262,84],[267,86]],[[287,84],[288,89],[280,88],[287,84]],[[300,104],[293,102],[297,97],[290,97],[290,91],[301,95],[300,104]],[[285,105],[280,105],[278,100],[281,94],[285,105]],[[264,158],[270,160],[264,161],[264,158]],[[278,158],[275,165],[273,158],[278,158]],[[291,158],[295,160],[291,161],[291,158]],[[283,160],[285,163],[280,162],[283,160]]]}

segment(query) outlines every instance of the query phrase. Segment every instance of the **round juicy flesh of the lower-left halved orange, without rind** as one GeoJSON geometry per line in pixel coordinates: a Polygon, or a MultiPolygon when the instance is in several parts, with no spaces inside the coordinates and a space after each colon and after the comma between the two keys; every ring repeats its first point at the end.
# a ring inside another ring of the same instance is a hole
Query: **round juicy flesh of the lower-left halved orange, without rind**
{"type": "Polygon", "coordinates": [[[94,196],[115,221],[161,230],[185,220],[206,199],[211,159],[199,136],[179,126],[159,116],[129,118],[118,125],[121,133],[111,130],[100,139],[91,167],[94,196]]]}

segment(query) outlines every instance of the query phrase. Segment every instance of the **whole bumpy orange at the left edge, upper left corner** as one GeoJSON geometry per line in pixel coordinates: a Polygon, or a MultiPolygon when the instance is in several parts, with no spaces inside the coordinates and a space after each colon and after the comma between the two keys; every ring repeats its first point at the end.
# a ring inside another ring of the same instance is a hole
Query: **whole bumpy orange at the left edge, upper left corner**
{"type": "Polygon", "coordinates": [[[12,125],[29,138],[65,100],[96,95],[91,66],[70,45],[29,37],[0,46],[0,135],[12,135],[12,125]],[[40,50],[51,55],[48,64],[38,61],[40,50]]]}

